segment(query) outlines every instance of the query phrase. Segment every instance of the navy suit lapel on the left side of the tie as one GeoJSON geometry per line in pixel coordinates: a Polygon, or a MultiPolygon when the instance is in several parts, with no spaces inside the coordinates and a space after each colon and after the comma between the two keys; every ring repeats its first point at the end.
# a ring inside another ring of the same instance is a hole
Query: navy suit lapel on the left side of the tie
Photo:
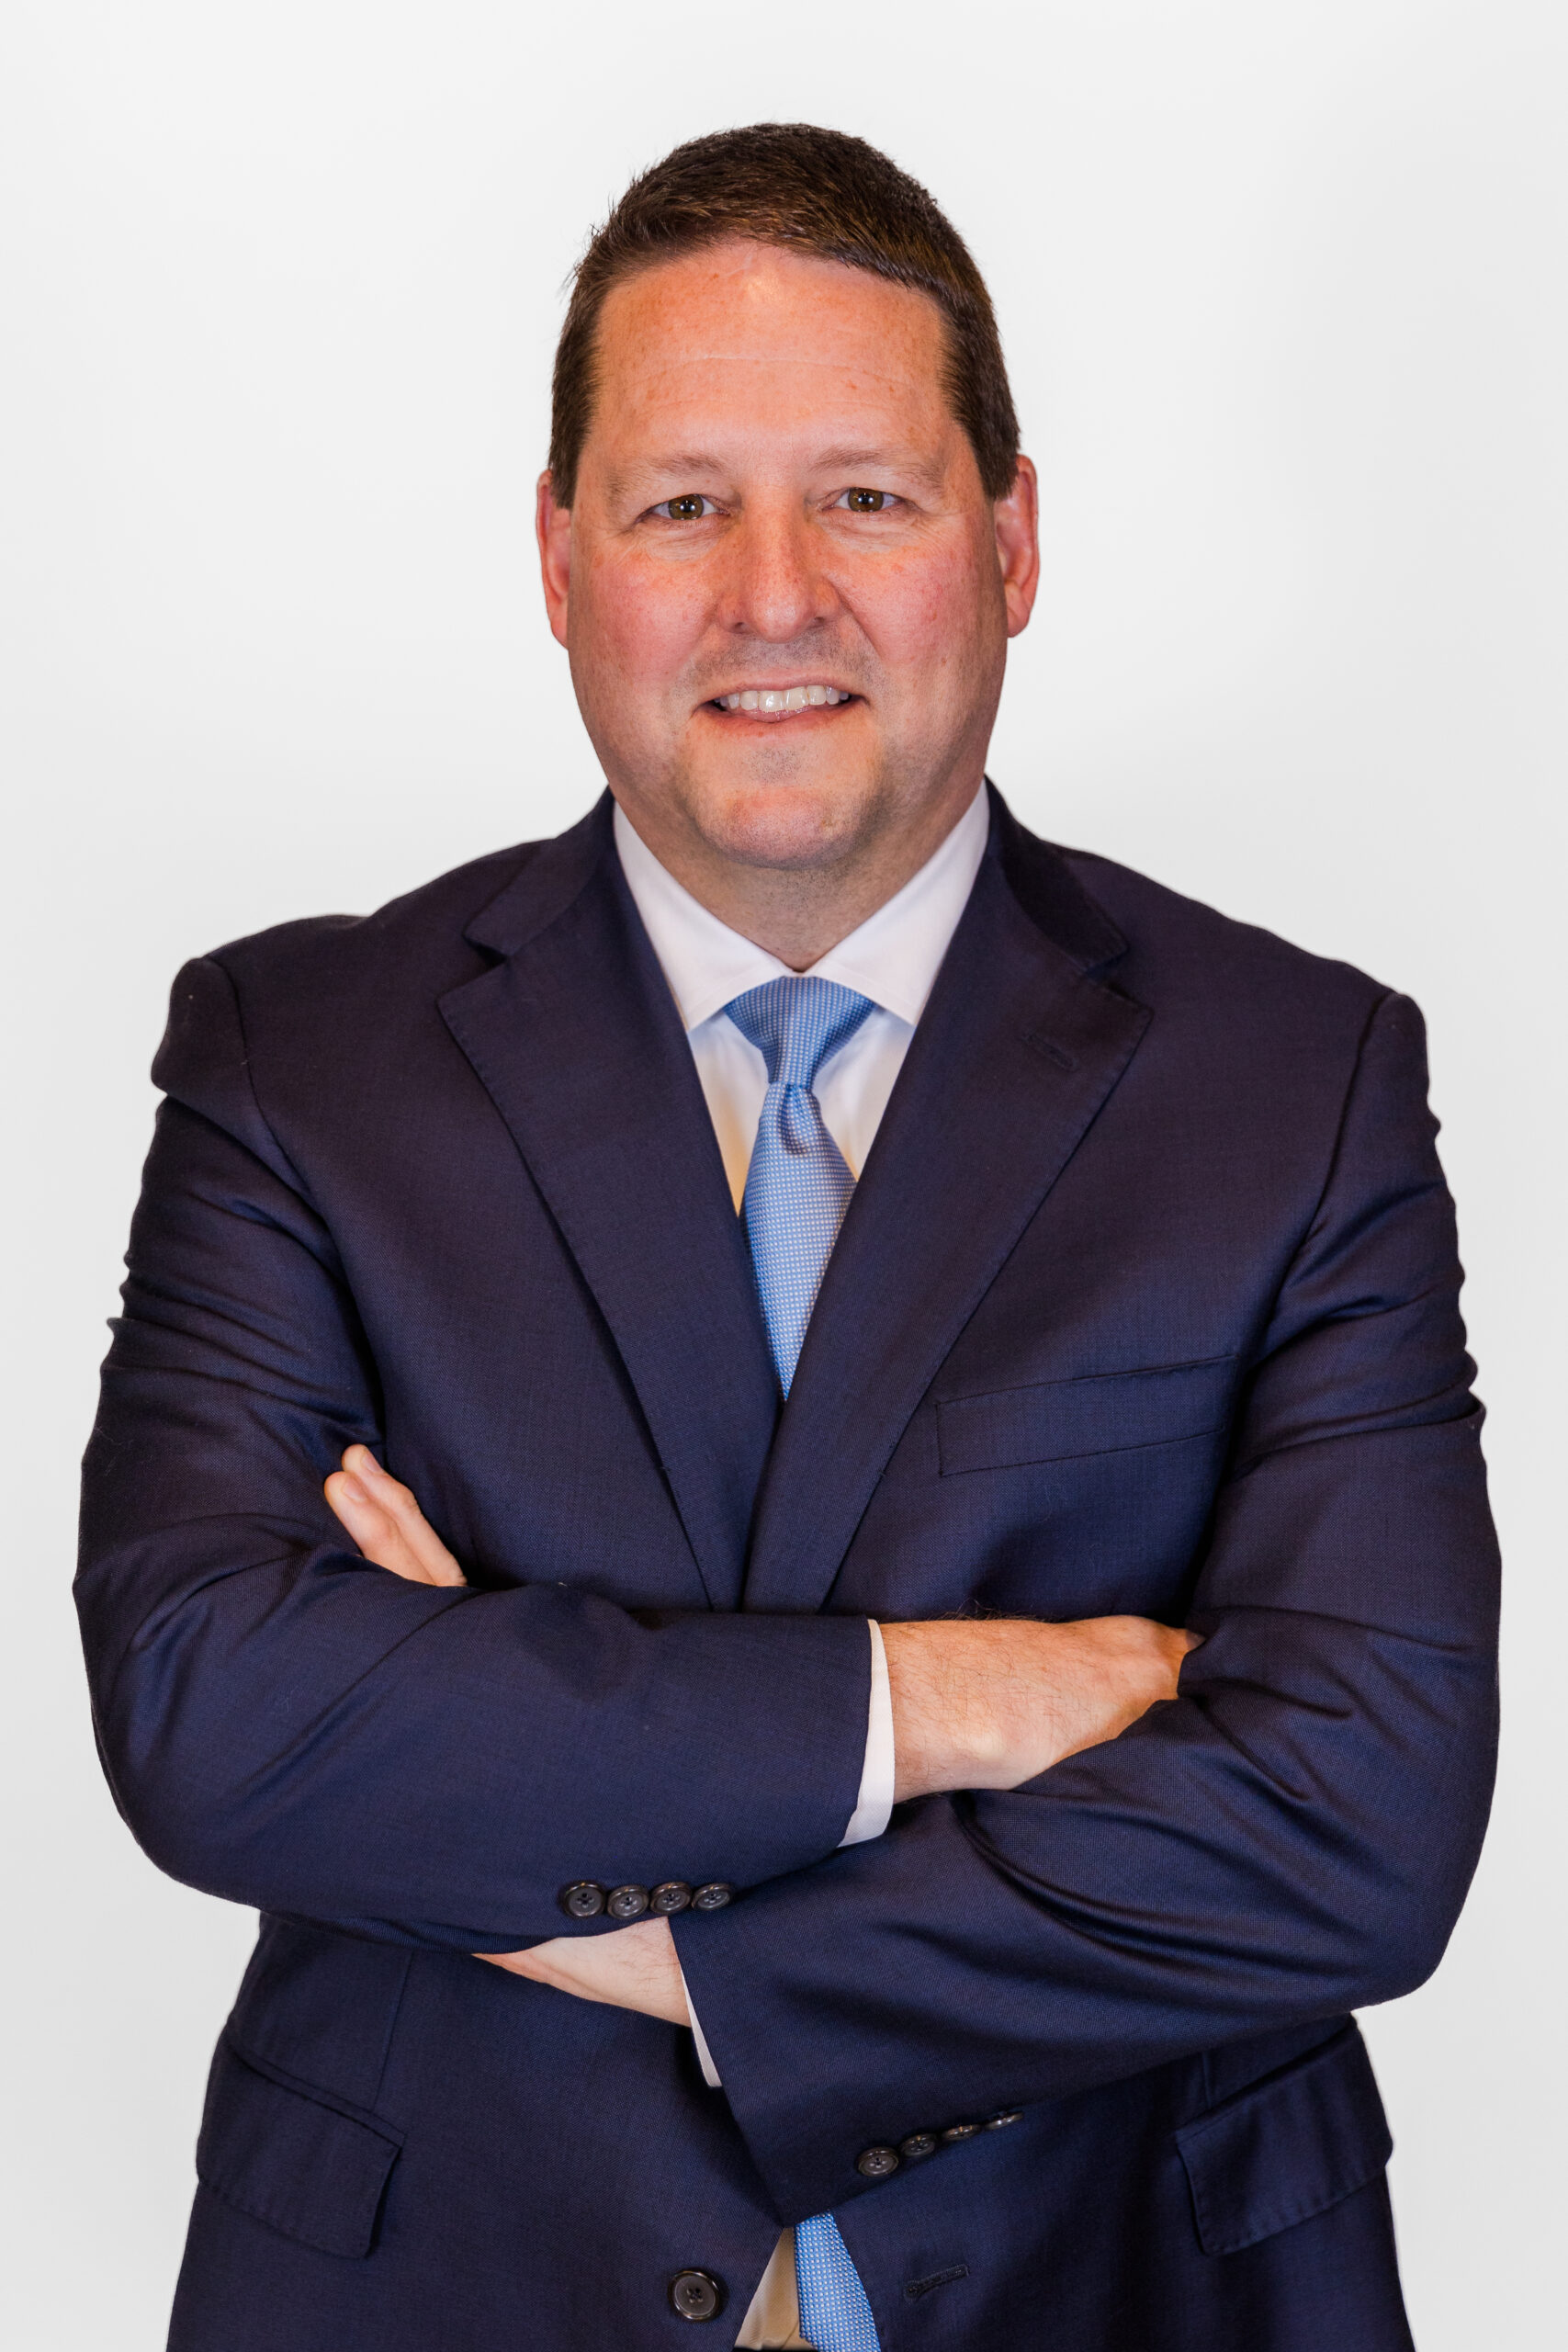
{"type": "Polygon", "coordinates": [[[741,1597],[778,1388],[691,1049],[609,800],[468,936],[501,962],[442,1016],[559,1225],[654,1435],[715,1609],[741,1597]]]}

